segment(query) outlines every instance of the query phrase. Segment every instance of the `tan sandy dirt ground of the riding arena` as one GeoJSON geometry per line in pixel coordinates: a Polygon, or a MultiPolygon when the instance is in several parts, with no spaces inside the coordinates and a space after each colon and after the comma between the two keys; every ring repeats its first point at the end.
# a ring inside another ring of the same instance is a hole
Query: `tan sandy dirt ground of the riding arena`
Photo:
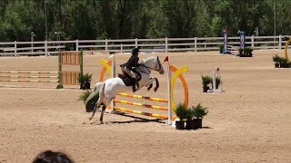
{"type": "MultiPolygon", "coordinates": [[[[83,92],[78,86],[56,90],[56,83],[0,82],[0,163],[31,162],[46,149],[90,163],[291,162],[291,69],[275,69],[275,53],[283,56],[271,50],[255,51],[252,58],[218,52],[140,55],[159,55],[161,60],[169,55],[177,67],[189,66],[184,74],[189,105],[202,102],[209,110],[199,130],[176,130],[162,120],[133,114],[105,114],[105,124],[99,125],[100,113],[88,120],[90,114],[77,101],[83,92]],[[225,92],[203,93],[200,75],[217,67],[225,92]]],[[[128,57],[116,55],[117,64],[128,57]]],[[[108,55],[84,57],[84,71],[94,74],[93,83],[101,72],[101,58],[108,55]]],[[[1,71],[57,68],[57,57],[0,57],[1,71]]],[[[160,81],[159,90],[143,88],[136,94],[166,98],[166,74],[152,74],[160,81]]],[[[174,96],[176,103],[184,101],[179,80],[174,96]]]]}

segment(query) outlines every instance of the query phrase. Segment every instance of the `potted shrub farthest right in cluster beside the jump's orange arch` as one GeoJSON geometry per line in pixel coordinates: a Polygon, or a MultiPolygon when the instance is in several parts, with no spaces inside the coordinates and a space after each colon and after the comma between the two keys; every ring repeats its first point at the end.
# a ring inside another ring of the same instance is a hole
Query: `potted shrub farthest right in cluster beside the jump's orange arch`
{"type": "Polygon", "coordinates": [[[201,102],[198,103],[198,105],[196,107],[192,106],[192,110],[193,110],[194,117],[196,118],[196,119],[194,119],[194,121],[195,121],[194,129],[201,129],[202,128],[202,120],[203,120],[204,116],[207,115],[208,110],[207,110],[207,108],[205,108],[201,105],[201,102]]]}

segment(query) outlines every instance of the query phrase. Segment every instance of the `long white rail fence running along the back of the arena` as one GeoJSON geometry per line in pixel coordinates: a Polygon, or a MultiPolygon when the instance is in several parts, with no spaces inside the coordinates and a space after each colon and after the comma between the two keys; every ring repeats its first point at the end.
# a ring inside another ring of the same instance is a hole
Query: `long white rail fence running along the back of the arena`
{"type": "MultiPolygon", "coordinates": [[[[246,36],[246,46],[254,49],[284,49],[290,36],[246,36]]],[[[228,44],[239,46],[239,37],[228,37],[228,44]]],[[[59,50],[83,50],[85,53],[129,53],[133,47],[142,52],[201,52],[218,51],[223,37],[160,38],[123,40],[75,40],[45,42],[0,43],[0,56],[55,55],[59,50]],[[69,46],[70,45],[70,46],[69,46]]],[[[290,47],[290,46],[289,46],[290,47]]]]}

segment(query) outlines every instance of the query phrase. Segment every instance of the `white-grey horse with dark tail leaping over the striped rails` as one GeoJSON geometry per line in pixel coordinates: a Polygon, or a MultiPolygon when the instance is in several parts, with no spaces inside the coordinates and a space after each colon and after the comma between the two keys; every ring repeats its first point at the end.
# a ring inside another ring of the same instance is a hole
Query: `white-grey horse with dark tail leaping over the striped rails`
{"type": "MultiPolygon", "coordinates": [[[[138,82],[139,88],[137,88],[137,90],[141,89],[142,87],[147,87],[147,91],[150,91],[153,86],[153,82],[156,82],[156,88],[154,91],[157,91],[157,88],[159,87],[158,80],[157,78],[151,78],[151,71],[156,71],[160,74],[165,73],[163,65],[160,62],[158,56],[151,56],[146,59],[142,59],[139,62],[139,65],[135,67],[134,72],[136,72],[136,74],[140,77],[138,82]]],[[[116,94],[119,92],[129,92],[133,90],[133,86],[128,84],[126,85],[125,81],[125,78],[122,79],[119,77],[109,78],[105,80],[105,82],[97,82],[95,84],[94,90],[85,101],[85,108],[87,111],[90,110],[90,108],[92,110],[92,106],[94,106],[93,113],[89,120],[93,119],[96,109],[99,108],[101,104],[103,104],[100,116],[100,122],[103,124],[105,108],[109,105],[110,101],[115,99],[116,94]],[[96,97],[97,95],[99,95],[99,97],[96,97]],[[104,100],[105,104],[103,103],[104,100]]]]}

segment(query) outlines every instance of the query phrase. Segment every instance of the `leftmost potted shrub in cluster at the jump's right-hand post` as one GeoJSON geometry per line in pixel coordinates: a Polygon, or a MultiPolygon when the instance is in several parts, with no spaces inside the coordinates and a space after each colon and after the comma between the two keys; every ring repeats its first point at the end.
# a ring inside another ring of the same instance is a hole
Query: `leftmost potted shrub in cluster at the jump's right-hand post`
{"type": "Polygon", "coordinates": [[[184,129],[185,128],[185,119],[186,119],[186,113],[187,112],[187,108],[185,103],[179,103],[176,106],[176,117],[179,118],[179,120],[176,120],[176,129],[184,129]]]}

